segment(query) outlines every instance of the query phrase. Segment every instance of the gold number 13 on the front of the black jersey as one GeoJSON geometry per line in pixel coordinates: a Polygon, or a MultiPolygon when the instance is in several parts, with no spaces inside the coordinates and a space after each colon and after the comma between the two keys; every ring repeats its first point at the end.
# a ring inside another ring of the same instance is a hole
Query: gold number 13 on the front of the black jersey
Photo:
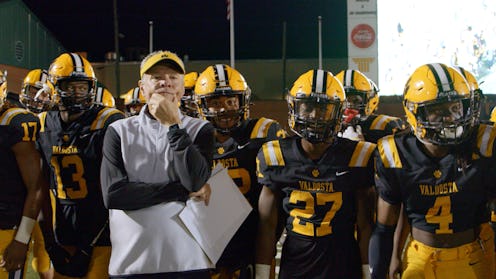
{"type": "Polygon", "coordinates": [[[53,156],[51,160],[57,179],[59,199],[82,199],[88,194],[84,179],[83,160],[78,155],[53,156]]]}

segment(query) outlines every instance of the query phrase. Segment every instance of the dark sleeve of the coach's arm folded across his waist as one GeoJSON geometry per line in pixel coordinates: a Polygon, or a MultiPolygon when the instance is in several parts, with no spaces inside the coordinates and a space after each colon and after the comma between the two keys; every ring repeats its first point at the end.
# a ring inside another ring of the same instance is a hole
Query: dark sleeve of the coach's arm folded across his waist
{"type": "Polygon", "coordinates": [[[101,167],[103,201],[109,209],[136,210],[188,197],[180,183],[129,182],[121,153],[121,140],[110,126],[103,143],[101,167]]]}

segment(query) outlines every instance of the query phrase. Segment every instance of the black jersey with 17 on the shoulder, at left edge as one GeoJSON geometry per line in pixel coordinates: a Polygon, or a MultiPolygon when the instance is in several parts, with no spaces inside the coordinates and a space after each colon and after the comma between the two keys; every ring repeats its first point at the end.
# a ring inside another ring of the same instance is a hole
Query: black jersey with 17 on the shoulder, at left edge
{"type": "Polygon", "coordinates": [[[25,109],[0,112],[0,229],[19,225],[27,193],[12,147],[36,142],[39,130],[38,117],[25,109]]]}

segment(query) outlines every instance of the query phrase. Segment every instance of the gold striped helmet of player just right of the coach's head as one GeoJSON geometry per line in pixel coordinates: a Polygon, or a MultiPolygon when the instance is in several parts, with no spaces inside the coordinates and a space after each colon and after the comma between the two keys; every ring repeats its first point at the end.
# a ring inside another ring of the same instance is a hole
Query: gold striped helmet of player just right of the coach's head
{"type": "Polygon", "coordinates": [[[249,117],[251,90],[240,72],[228,65],[207,67],[194,89],[200,117],[229,133],[249,117]]]}

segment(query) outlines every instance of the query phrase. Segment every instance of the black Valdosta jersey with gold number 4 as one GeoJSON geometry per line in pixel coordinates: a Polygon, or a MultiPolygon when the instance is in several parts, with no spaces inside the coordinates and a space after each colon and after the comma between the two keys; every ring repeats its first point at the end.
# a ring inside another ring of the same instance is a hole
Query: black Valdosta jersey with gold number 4
{"type": "Polygon", "coordinates": [[[489,220],[486,202],[496,197],[496,129],[480,125],[467,143],[469,160],[460,163],[451,152],[432,158],[411,134],[397,134],[379,140],[376,157],[376,187],[382,199],[403,203],[413,227],[450,234],[474,228],[489,220]]]}

